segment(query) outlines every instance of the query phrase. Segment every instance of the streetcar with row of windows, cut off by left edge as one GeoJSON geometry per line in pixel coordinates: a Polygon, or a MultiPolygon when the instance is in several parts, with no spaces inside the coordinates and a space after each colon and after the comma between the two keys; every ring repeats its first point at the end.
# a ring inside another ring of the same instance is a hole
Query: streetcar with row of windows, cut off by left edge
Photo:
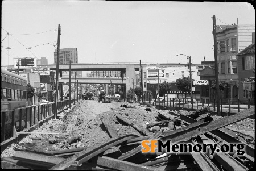
{"type": "Polygon", "coordinates": [[[1,111],[28,106],[27,80],[1,68],[1,111]]]}

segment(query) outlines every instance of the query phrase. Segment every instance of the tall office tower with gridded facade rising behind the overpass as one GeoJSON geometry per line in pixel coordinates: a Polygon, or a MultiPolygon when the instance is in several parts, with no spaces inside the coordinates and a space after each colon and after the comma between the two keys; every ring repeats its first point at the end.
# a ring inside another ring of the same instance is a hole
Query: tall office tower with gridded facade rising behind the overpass
{"type": "MultiPolygon", "coordinates": [[[[60,49],[59,51],[59,64],[69,64],[71,60],[71,64],[78,63],[78,55],[77,55],[77,48],[64,48],[60,49]]],[[[54,51],[54,64],[57,64],[57,49],[54,51]]],[[[74,72],[71,73],[72,76],[75,74],[74,72]]],[[[82,77],[82,72],[76,72],[77,77],[82,77]]]]}

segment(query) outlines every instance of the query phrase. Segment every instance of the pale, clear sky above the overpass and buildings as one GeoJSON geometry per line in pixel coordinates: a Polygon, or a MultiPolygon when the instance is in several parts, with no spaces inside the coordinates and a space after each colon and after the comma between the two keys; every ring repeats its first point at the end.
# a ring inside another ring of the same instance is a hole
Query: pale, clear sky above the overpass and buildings
{"type": "Polygon", "coordinates": [[[200,64],[214,60],[213,15],[217,25],[255,24],[244,2],[2,1],[1,66],[20,57],[53,64],[59,24],[60,48],[77,48],[79,63],[185,64],[182,53],[200,64]]]}

